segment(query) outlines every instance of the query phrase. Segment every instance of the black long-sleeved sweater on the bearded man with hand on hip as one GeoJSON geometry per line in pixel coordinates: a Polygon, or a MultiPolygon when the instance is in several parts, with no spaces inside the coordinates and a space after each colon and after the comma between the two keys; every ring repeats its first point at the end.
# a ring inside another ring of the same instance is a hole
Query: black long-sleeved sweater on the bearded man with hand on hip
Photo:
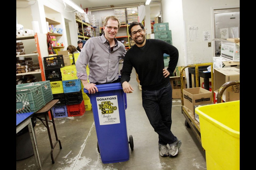
{"type": "Polygon", "coordinates": [[[133,45],[125,54],[121,75],[121,84],[129,82],[133,67],[135,68],[143,90],[158,90],[163,88],[170,78],[163,76],[165,68],[163,54],[170,55],[167,70],[173,74],[178,63],[179,52],[173,45],[162,40],[146,39],[146,44],[139,48],[133,45]]]}

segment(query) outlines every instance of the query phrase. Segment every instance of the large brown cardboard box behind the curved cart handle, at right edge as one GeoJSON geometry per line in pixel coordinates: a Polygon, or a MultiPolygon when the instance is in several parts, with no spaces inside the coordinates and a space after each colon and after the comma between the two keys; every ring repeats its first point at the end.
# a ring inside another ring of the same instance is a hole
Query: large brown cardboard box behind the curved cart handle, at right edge
{"type": "MultiPolygon", "coordinates": [[[[235,67],[229,68],[216,68],[214,69],[214,91],[218,91],[219,88],[229,81],[240,80],[240,69],[235,67]]],[[[228,87],[223,95],[222,99],[225,102],[240,100],[240,85],[228,87]]]]}

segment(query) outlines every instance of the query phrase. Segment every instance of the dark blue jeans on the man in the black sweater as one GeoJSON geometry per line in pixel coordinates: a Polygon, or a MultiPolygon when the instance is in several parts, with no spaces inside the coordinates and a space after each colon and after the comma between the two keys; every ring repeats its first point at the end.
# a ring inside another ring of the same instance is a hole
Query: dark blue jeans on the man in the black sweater
{"type": "Polygon", "coordinates": [[[142,106],[161,145],[177,140],[171,132],[172,91],[170,82],[159,90],[142,90],[142,106]]]}

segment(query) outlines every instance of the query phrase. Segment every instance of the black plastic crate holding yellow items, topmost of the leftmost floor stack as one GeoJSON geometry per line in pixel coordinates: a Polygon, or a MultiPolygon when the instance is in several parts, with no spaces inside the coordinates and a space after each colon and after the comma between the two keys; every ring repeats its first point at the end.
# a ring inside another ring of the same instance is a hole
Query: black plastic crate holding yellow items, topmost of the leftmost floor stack
{"type": "Polygon", "coordinates": [[[44,57],[43,60],[45,61],[45,70],[64,67],[64,60],[62,55],[44,57]]]}

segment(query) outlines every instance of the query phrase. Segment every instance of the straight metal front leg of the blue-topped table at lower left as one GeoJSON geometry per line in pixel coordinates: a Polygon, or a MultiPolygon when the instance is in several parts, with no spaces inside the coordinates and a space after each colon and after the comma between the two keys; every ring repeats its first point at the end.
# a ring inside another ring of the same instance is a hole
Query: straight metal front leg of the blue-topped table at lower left
{"type": "Polygon", "coordinates": [[[39,159],[38,150],[37,150],[37,143],[36,143],[36,141],[35,141],[35,134],[34,134],[34,130],[33,130],[33,125],[32,125],[32,122],[31,122],[31,118],[29,118],[28,128],[29,128],[29,134],[30,134],[32,146],[33,146],[33,151],[34,151],[34,156],[35,156],[35,162],[36,162],[36,164],[37,164],[37,169],[42,169],[41,162],[40,162],[40,159],[39,159]]]}

